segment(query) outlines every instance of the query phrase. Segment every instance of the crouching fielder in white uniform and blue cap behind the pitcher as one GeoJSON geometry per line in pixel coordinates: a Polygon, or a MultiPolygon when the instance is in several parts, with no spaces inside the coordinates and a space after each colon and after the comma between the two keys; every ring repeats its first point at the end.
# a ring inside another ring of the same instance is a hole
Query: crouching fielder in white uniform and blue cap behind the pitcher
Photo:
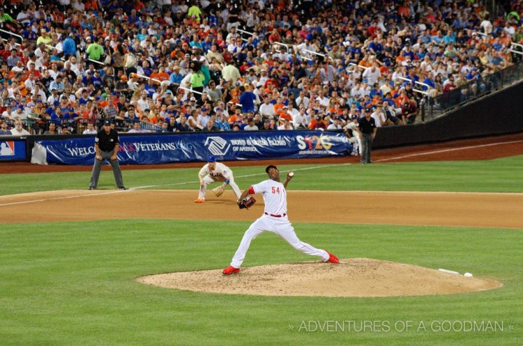
{"type": "MultiPolygon", "coordinates": [[[[198,198],[196,198],[195,203],[204,203],[205,202],[205,190],[207,189],[207,184],[213,182],[223,182],[221,187],[221,192],[227,187],[227,184],[231,185],[232,191],[236,194],[236,198],[240,198],[241,191],[236,182],[234,182],[234,176],[232,175],[231,168],[225,166],[220,162],[216,162],[214,156],[210,156],[207,160],[207,164],[202,167],[198,172],[199,178],[199,193],[198,198]]],[[[216,196],[220,196],[216,194],[216,196]]]]}

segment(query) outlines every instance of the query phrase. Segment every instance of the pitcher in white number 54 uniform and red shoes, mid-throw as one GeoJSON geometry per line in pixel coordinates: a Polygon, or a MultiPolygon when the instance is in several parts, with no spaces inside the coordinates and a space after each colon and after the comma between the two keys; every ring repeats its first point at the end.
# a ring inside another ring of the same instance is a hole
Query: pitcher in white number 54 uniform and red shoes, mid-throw
{"type": "Polygon", "coordinates": [[[278,171],[276,166],[267,166],[265,171],[270,179],[252,185],[252,187],[243,191],[243,194],[241,194],[237,201],[238,205],[240,205],[243,198],[246,198],[250,194],[261,193],[264,196],[264,214],[252,223],[245,232],[243,239],[241,239],[240,246],[238,246],[238,250],[236,250],[232,258],[231,265],[223,269],[223,274],[229,275],[240,272],[241,263],[245,259],[245,253],[247,253],[249,249],[250,242],[266,231],[276,233],[297,251],[318,256],[324,262],[340,262],[338,257],[332,253],[326,250],[316,249],[310,244],[301,242],[298,236],[296,236],[296,233],[294,233],[294,228],[287,218],[287,191],[285,191],[294,173],[287,173],[287,179],[282,184],[280,182],[280,171],[278,171]]]}

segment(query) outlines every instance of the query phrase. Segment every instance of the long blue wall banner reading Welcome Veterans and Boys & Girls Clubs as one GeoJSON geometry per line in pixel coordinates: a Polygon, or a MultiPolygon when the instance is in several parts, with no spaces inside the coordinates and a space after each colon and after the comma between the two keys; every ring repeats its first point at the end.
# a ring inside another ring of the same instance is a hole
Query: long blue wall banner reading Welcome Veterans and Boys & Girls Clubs
{"type": "MultiPolygon", "coordinates": [[[[120,136],[121,164],[166,164],[248,159],[297,159],[350,155],[344,133],[321,131],[215,132],[207,134],[140,134],[120,136]]],[[[33,161],[42,164],[93,164],[94,138],[37,141],[33,161]],[[36,159],[35,152],[42,152],[36,159]],[[44,159],[45,157],[45,159],[44,159]],[[39,162],[41,161],[41,162],[39,162]]]]}

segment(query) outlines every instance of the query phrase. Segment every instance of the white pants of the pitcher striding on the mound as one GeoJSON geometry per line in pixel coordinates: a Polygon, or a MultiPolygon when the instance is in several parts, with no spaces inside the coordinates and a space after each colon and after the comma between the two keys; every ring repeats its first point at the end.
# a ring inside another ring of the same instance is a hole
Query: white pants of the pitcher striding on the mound
{"type": "Polygon", "coordinates": [[[241,263],[245,260],[245,253],[247,253],[250,242],[255,239],[258,235],[264,232],[273,232],[285,239],[285,242],[289,243],[297,251],[301,251],[308,255],[318,256],[324,262],[328,261],[328,253],[325,250],[316,249],[310,244],[301,242],[298,239],[294,228],[292,227],[287,217],[270,217],[268,215],[262,215],[259,219],[250,225],[249,229],[243,235],[240,246],[232,258],[231,265],[235,268],[241,267],[241,263]]]}

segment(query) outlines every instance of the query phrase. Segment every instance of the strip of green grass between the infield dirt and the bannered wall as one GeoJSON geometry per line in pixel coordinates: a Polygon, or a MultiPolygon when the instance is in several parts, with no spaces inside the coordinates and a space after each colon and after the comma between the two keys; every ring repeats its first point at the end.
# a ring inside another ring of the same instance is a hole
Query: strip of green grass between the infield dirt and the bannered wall
{"type": "MultiPolygon", "coordinates": [[[[265,179],[264,167],[234,167],[238,186],[242,189],[265,179]]],[[[289,169],[296,171],[292,189],[523,192],[523,156],[488,161],[280,166],[281,171],[289,169]]],[[[123,180],[127,187],[197,189],[198,171],[199,168],[126,170],[123,180]]],[[[87,189],[90,176],[90,172],[4,174],[0,175],[0,195],[87,189]]],[[[111,171],[101,173],[98,188],[115,188],[111,171]]]]}

